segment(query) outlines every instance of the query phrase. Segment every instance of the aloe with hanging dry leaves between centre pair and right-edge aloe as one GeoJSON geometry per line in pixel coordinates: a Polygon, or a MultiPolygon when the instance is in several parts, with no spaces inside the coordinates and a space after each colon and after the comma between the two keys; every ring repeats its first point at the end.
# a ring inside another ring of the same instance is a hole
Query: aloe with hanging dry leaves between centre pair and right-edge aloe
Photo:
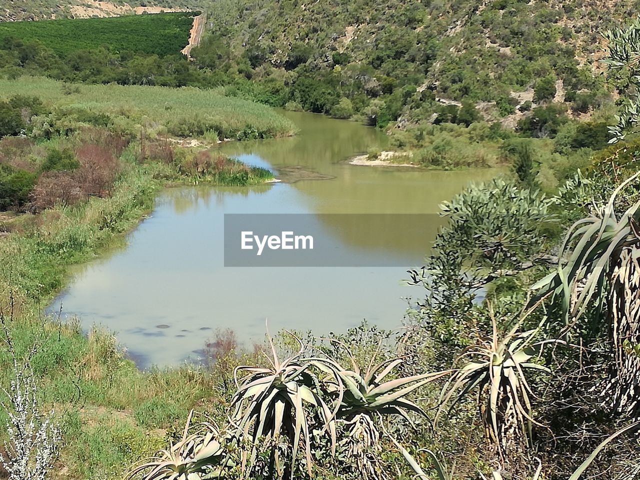
{"type": "Polygon", "coordinates": [[[532,424],[536,423],[531,403],[534,393],[525,372],[548,371],[547,367],[535,363],[542,348],[541,343],[536,343],[541,325],[518,332],[523,321],[524,317],[500,337],[495,317],[492,318],[492,335],[479,339],[458,359],[465,364],[442,389],[438,411],[439,416],[454,396],[451,408],[470,392],[478,392],[479,398],[486,397],[486,403],[481,404],[482,420],[500,454],[511,450],[520,440],[527,442],[532,424]]]}

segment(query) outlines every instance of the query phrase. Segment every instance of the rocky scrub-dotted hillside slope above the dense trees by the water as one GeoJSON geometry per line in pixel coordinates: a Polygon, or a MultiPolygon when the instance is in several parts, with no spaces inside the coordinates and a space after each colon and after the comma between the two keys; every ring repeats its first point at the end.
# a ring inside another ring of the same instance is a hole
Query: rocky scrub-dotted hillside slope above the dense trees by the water
{"type": "MultiPolygon", "coordinates": [[[[602,0],[221,1],[209,15],[210,31],[220,35],[194,55],[210,68],[226,69],[230,61],[240,74],[270,83],[276,95],[276,85],[294,85],[288,100],[312,111],[328,113],[346,98],[353,111],[369,106],[385,120],[407,108],[428,118],[444,99],[457,106],[495,102],[481,108],[504,118],[527,101],[562,101],[569,92],[572,102],[576,92],[598,92],[600,35],[636,7],[602,0]],[[306,77],[319,83],[314,95],[305,92],[314,86],[301,82],[306,77]],[[385,103],[372,105],[373,99],[385,103]]],[[[582,110],[597,106],[596,96],[580,99],[589,103],[582,110]]]]}

